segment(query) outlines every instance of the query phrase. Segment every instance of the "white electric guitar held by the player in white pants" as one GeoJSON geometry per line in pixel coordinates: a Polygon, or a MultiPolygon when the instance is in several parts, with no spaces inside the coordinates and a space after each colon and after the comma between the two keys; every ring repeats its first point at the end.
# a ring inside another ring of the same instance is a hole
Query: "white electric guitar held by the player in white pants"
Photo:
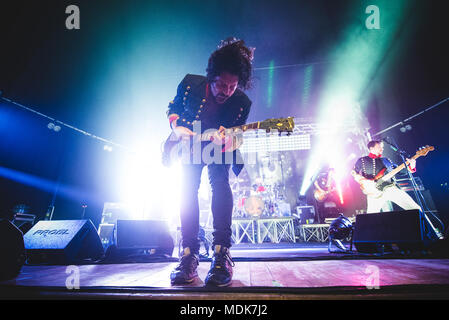
{"type": "MultiPolygon", "coordinates": [[[[432,146],[425,146],[420,148],[416,154],[412,157],[412,159],[418,159],[419,157],[426,156],[430,151],[433,151],[435,148],[432,146]]],[[[406,164],[409,165],[409,162],[406,161],[406,164]]],[[[363,179],[359,182],[360,188],[363,193],[367,196],[371,196],[374,198],[380,198],[382,196],[382,190],[386,185],[389,185],[388,182],[391,178],[393,178],[399,171],[405,168],[405,164],[401,164],[397,168],[391,170],[387,174],[385,174],[387,168],[383,168],[372,180],[363,179]]],[[[354,171],[351,174],[356,177],[357,173],[354,171]]]]}

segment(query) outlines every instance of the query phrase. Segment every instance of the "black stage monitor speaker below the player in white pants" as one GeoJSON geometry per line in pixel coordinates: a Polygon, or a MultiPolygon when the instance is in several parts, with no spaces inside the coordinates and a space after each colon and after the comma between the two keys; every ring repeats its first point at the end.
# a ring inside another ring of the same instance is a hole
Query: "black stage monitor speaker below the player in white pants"
{"type": "Polygon", "coordinates": [[[400,250],[422,250],[431,239],[419,210],[359,214],[353,243],[359,252],[383,252],[397,246],[400,250]],[[387,245],[387,246],[386,246],[387,245]]]}

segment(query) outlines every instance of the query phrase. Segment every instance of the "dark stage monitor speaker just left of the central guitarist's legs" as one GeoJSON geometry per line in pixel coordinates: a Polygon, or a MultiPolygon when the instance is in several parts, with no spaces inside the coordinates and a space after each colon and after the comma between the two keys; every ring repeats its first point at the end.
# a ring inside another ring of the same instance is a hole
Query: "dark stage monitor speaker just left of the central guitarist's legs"
{"type": "Polygon", "coordinates": [[[156,249],[172,255],[173,238],[165,221],[117,220],[117,249],[156,249]]]}

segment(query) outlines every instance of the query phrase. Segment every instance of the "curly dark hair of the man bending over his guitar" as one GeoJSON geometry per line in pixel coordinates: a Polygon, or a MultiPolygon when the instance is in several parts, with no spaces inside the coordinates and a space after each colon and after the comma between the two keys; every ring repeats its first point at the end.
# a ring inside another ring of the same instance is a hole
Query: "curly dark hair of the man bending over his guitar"
{"type": "Polygon", "coordinates": [[[248,48],[243,40],[227,38],[209,57],[207,80],[213,82],[223,72],[239,77],[239,88],[251,87],[252,60],[255,48],[248,48]]]}

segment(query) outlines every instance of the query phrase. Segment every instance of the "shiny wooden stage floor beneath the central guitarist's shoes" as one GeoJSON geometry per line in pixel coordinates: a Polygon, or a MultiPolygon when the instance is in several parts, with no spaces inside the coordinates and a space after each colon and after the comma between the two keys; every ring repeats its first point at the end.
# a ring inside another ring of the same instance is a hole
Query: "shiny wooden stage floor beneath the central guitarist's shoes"
{"type": "Polygon", "coordinates": [[[228,288],[204,287],[210,262],[198,279],[171,286],[177,264],[25,265],[0,283],[2,299],[447,299],[449,259],[329,253],[327,246],[239,245],[231,251],[234,277],[228,288]],[[79,278],[75,278],[79,275],[79,278]],[[79,282],[77,280],[79,279],[79,282]],[[79,288],[76,288],[79,283],[79,288]],[[75,286],[75,288],[72,288],[75,286]]]}

